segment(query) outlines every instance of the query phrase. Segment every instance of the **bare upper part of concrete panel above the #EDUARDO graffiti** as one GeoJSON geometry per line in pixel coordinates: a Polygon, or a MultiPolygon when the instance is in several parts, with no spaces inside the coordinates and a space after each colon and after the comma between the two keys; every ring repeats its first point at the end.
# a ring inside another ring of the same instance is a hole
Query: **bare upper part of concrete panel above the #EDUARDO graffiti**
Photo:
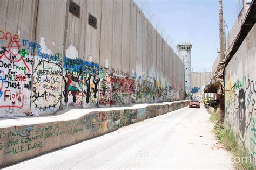
{"type": "Polygon", "coordinates": [[[63,51],[67,1],[38,1],[36,42],[42,41],[42,53],[56,54],[63,51]],[[58,21],[58,22],[57,22],[58,21]]]}

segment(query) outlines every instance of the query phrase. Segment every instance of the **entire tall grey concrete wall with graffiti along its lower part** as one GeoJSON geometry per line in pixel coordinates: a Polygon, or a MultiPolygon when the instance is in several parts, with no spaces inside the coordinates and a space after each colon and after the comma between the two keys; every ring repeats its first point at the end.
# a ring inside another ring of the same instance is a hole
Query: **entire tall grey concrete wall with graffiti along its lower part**
{"type": "Polygon", "coordinates": [[[133,1],[72,2],[1,1],[1,117],[183,98],[183,63],[133,1]]]}

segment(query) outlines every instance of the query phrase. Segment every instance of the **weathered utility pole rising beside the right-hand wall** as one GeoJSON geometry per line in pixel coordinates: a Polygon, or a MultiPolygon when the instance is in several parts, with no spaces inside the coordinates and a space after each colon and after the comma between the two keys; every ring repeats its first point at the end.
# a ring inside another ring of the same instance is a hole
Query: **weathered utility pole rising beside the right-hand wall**
{"type": "MultiPolygon", "coordinates": [[[[224,20],[223,20],[223,7],[222,0],[219,0],[219,27],[220,27],[220,62],[225,59],[224,54],[224,20]]],[[[220,100],[220,122],[224,122],[224,96],[222,94],[218,94],[218,98],[220,100]]]]}

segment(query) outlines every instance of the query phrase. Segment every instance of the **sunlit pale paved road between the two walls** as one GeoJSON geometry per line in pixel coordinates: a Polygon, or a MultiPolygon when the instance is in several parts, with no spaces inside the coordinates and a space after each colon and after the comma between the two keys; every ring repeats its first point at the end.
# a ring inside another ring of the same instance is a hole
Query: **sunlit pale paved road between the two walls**
{"type": "Polygon", "coordinates": [[[233,168],[230,153],[214,150],[209,116],[202,106],[186,107],[7,169],[233,168]]]}

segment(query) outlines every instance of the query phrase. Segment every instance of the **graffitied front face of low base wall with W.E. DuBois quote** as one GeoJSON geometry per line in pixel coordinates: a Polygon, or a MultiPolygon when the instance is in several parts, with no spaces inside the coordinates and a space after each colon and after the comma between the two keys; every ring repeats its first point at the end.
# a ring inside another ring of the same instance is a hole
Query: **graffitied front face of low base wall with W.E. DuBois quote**
{"type": "MultiPolygon", "coordinates": [[[[174,104],[177,105],[172,103],[169,106],[174,104]]],[[[185,107],[187,104],[187,102],[179,102],[179,107],[175,108],[185,107]]],[[[152,105],[149,108],[90,112],[70,121],[2,128],[0,130],[0,166],[28,158],[24,155],[33,157],[170,111],[164,108],[169,107],[152,105]],[[162,111],[156,112],[156,110],[162,111]]]]}

